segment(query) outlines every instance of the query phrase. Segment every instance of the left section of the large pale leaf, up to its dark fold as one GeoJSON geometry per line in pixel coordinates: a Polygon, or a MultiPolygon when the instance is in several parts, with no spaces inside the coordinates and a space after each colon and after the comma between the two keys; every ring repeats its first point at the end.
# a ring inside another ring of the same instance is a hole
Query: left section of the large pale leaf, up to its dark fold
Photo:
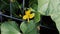
{"type": "Polygon", "coordinates": [[[49,5],[49,0],[38,0],[38,11],[43,14],[46,15],[47,13],[47,9],[48,9],[48,5],[49,5]]]}

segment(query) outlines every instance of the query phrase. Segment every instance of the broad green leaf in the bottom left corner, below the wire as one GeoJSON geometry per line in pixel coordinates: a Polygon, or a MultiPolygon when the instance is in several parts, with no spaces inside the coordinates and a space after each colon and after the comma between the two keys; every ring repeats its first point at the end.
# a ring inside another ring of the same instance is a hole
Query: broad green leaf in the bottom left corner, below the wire
{"type": "Polygon", "coordinates": [[[20,34],[17,24],[14,21],[1,24],[1,34],[20,34]]]}

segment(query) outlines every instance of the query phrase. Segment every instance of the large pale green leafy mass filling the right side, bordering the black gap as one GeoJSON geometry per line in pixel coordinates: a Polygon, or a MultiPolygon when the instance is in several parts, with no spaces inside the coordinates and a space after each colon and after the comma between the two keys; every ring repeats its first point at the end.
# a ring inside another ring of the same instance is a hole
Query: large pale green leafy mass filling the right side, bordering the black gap
{"type": "Polygon", "coordinates": [[[40,0],[38,1],[39,12],[43,15],[51,16],[52,20],[55,21],[56,26],[60,32],[60,0],[48,0],[46,1],[46,3],[43,3],[43,5],[41,5],[41,3],[39,2],[40,0]]]}

